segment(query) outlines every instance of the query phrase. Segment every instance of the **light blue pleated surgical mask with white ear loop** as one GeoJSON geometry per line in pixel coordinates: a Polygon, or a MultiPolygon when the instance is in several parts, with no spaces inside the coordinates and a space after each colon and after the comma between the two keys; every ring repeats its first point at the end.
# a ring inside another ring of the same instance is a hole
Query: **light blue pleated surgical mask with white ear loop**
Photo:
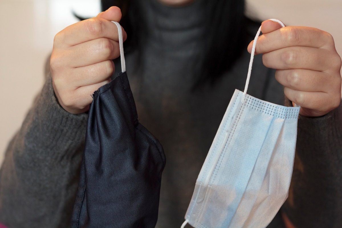
{"type": "Polygon", "coordinates": [[[227,107],[182,227],[186,223],[196,228],[266,227],[288,197],[300,107],[247,94],[260,31],[261,27],[245,91],[235,90],[227,107]]]}

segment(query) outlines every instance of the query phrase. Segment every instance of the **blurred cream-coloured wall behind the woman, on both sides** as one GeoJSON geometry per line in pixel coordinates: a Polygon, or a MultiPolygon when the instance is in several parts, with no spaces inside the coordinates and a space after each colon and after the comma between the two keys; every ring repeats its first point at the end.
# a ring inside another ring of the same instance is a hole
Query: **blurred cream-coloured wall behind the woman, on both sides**
{"type": "MultiPolygon", "coordinates": [[[[55,34],[77,22],[73,11],[92,17],[100,9],[99,0],[0,0],[0,163],[43,84],[55,34]]],[[[325,30],[342,55],[340,0],[247,0],[246,14],[325,30]]]]}

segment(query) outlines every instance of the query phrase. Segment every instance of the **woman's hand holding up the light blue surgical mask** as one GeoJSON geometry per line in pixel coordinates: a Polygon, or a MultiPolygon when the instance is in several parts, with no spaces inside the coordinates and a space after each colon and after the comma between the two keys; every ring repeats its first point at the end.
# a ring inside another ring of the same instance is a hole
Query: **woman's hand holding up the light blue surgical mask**
{"type": "MultiPolygon", "coordinates": [[[[341,101],[341,58],[332,36],[310,27],[262,23],[255,54],[263,54],[266,67],[276,70],[284,93],[301,106],[303,116],[323,116],[341,101]]],[[[252,43],[248,51],[252,50],[252,43]]]]}

